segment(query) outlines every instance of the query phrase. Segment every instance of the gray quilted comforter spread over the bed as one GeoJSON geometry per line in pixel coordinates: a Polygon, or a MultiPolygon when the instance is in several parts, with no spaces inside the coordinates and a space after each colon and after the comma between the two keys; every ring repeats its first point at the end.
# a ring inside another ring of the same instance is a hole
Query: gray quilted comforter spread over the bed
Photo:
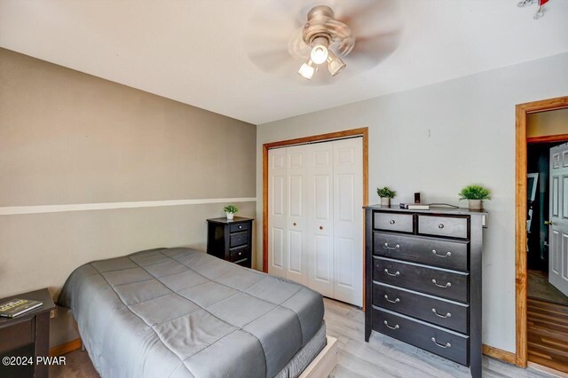
{"type": "Polygon", "coordinates": [[[324,312],[307,287],[188,248],[84,264],[59,304],[104,377],[272,377],[324,312]]]}

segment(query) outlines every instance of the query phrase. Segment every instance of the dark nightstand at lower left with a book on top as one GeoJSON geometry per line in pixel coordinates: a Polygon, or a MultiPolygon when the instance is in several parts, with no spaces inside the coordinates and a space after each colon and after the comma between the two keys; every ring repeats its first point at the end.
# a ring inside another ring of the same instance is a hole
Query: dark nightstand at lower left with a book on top
{"type": "MultiPolygon", "coordinates": [[[[4,303],[13,298],[43,302],[43,306],[16,318],[0,318],[0,360],[4,357],[33,358],[50,354],[50,313],[55,309],[47,288],[0,299],[4,303]]],[[[49,366],[11,365],[0,363],[2,377],[47,377],[49,366]]]]}

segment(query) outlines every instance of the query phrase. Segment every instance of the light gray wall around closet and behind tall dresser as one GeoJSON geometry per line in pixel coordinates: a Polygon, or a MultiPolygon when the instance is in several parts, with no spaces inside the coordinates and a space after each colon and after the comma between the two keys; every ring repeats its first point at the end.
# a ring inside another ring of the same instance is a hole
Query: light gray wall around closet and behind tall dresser
{"type": "MultiPolygon", "coordinates": [[[[568,95],[566,67],[568,54],[561,54],[259,125],[256,193],[262,193],[264,143],[359,127],[369,128],[371,203],[379,201],[376,187],[388,185],[398,192],[394,203],[422,192],[425,202],[467,206],[458,201],[462,186],[488,186],[483,341],[514,351],[515,105],[568,95]]],[[[261,216],[258,201],[257,230],[261,216]]],[[[257,238],[260,243],[261,232],[257,238]]]]}

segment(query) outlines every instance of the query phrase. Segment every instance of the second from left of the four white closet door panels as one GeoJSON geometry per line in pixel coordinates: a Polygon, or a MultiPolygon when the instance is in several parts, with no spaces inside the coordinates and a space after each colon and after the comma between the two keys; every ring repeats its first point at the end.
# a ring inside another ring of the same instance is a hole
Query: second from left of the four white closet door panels
{"type": "Polygon", "coordinates": [[[308,163],[306,146],[286,148],[287,155],[287,257],[286,278],[308,283],[307,255],[307,181],[308,163]]]}

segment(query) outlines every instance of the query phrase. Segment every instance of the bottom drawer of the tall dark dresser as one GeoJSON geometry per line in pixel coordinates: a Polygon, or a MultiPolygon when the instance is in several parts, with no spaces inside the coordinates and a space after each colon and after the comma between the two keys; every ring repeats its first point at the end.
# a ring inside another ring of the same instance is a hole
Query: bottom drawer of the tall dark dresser
{"type": "Polygon", "coordinates": [[[469,365],[469,336],[430,326],[392,311],[373,308],[373,329],[461,365],[469,365]]]}

